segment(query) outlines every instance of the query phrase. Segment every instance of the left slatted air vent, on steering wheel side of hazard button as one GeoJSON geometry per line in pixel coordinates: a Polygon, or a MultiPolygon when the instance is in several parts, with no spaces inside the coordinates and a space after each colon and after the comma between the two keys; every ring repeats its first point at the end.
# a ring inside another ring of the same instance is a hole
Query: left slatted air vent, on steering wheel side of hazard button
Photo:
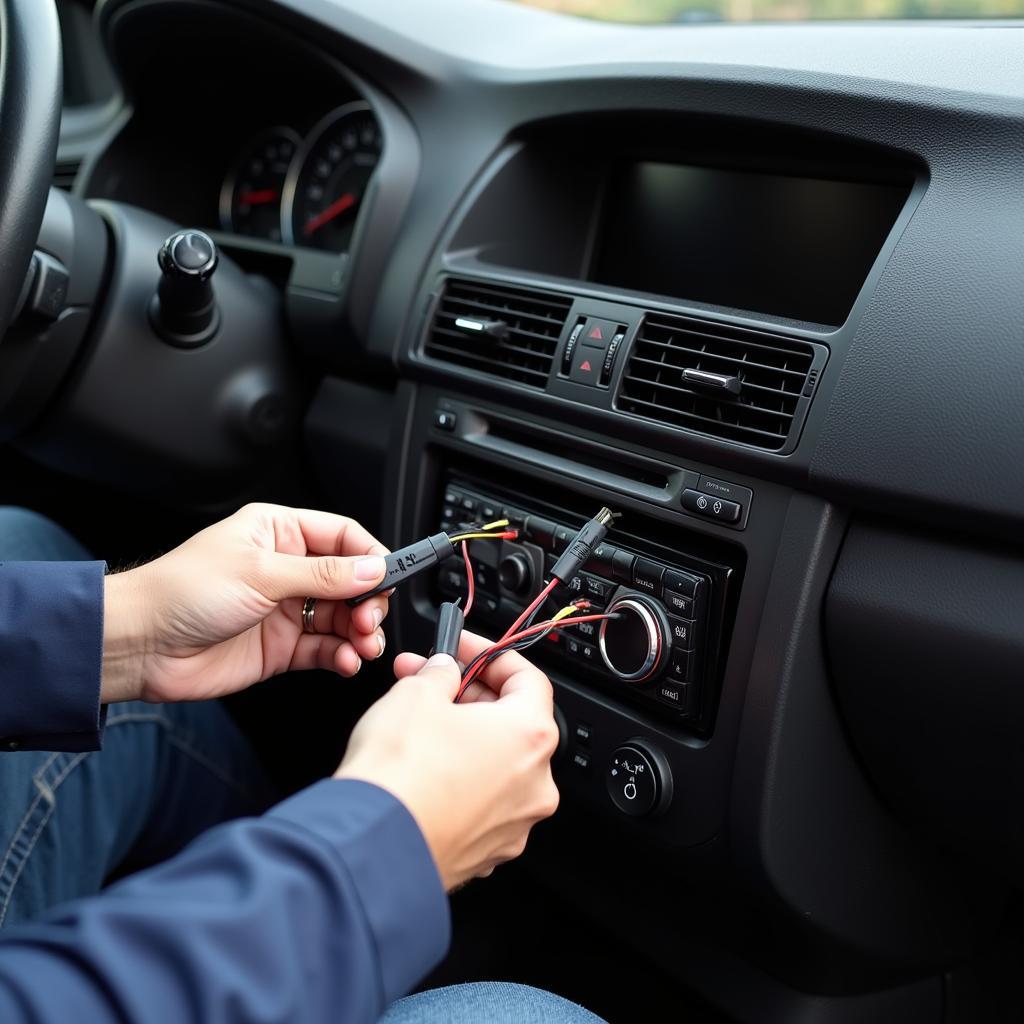
{"type": "Polygon", "coordinates": [[[549,292],[450,279],[424,352],[543,388],[571,305],[549,292]]]}

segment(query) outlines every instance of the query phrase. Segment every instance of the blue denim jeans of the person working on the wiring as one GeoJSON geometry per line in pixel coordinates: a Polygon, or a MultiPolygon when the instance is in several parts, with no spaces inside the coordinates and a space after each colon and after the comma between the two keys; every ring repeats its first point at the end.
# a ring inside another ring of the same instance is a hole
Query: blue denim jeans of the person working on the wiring
{"type": "MultiPolygon", "coordinates": [[[[0,561],[91,557],[55,523],[0,508],[0,561]]],[[[0,755],[0,927],[99,891],[200,833],[259,813],[270,787],[215,701],[109,709],[101,752],[0,755]]],[[[381,1024],[602,1024],[524,985],[453,985],[399,999],[381,1024]]]]}

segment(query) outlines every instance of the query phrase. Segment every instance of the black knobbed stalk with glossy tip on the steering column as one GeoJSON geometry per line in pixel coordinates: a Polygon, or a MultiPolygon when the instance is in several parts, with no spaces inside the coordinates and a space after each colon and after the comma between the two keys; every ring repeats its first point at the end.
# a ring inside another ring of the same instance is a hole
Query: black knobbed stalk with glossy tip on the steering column
{"type": "Polygon", "coordinates": [[[150,304],[154,330],[172,345],[194,348],[209,341],[220,325],[210,279],[217,247],[204,231],[175,231],[157,254],[162,272],[150,304]]]}

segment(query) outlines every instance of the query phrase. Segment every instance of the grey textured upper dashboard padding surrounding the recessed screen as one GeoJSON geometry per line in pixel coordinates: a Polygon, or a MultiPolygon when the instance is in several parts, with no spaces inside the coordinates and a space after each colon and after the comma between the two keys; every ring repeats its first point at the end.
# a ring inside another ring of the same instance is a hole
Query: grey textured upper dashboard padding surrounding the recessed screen
{"type": "Polygon", "coordinates": [[[1020,518],[1024,33],[1011,23],[652,29],[499,0],[286,2],[334,26],[339,55],[392,92],[423,139],[371,348],[408,337],[444,218],[521,125],[644,109],[861,139],[916,160],[927,189],[792,463],[853,505],[968,528],[1020,518]]]}

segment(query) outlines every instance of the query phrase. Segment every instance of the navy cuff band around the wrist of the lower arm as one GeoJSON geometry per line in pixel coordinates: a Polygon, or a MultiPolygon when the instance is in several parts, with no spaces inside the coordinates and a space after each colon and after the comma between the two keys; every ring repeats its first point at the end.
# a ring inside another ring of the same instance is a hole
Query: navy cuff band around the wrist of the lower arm
{"type": "Polygon", "coordinates": [[[447,894],[416,819],[386,790],[325,779],[269,817],[302,825],[344,862],[362,902],[380,966],[383,1005],[410,992],[447,951],[447,894]]]}

